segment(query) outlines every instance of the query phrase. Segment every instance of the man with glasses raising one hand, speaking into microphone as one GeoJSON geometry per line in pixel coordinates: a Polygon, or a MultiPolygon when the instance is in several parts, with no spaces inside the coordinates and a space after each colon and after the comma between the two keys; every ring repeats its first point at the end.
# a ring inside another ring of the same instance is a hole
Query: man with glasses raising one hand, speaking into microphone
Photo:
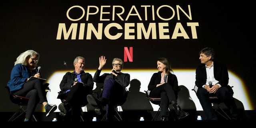
{"type": "Polygon", "coordinates": [[[106,64],[105,56],[100,56],[100,66],[94,74],[93,81],[104,83],[102,94],[99,99],[92,95],[87,96],[88,103],[94,106],[97,114],[101,114],[102,108],[106,106],[107,121],[114,121],[114,106],[124,100],[126,87],[130,84],[130,74],[122,73],[124,62],[120,58],[114,58],[111,73],[104,73],[100,76],[103,66],[106,64]]]}

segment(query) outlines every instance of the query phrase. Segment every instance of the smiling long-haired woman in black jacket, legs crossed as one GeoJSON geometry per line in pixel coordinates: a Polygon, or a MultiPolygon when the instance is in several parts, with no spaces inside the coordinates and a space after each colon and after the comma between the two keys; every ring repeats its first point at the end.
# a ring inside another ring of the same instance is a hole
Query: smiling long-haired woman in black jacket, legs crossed
{"type": "Polygon", "coordinates": [[[148,84],[150,97],[160,97],[161,120],[166,120],[169,104],[172,104],[178,119],[187,117],[189,114],[184,112],[177,104],[178,98],[178,79],[172,74],[170,61],[167,58],[157,59],[157,68],[159,72],[154,73],[148,84]]]}

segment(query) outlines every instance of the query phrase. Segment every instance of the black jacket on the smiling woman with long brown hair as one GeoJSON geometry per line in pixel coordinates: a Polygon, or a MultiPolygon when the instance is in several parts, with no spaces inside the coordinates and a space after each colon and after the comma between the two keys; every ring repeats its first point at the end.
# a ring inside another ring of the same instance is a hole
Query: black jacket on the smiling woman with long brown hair
{"type": "MultiPolygon", "coordinates": [[[[157,84],[160,84],[161,82],[161,72],[154,73],[150,79],[150,82],[148,84],[148,90],[153,90],[156,88],[157,84]]],[[[176,75],[169,73],[167,82],[172,86],[173,90],[175,91],[175,94],[178,94],[179,86],[178,86],[178,79],[176,75]]]]}

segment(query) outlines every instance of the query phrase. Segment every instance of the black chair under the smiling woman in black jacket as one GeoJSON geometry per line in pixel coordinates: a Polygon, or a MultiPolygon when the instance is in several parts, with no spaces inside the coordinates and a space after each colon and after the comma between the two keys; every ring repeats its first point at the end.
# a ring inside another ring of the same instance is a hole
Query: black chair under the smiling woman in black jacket
{"type": "MultiPolygon", "coordinates": [[[[153,116],[152,121],[157,120],[157,118],[159,118],[160,116],[160,111],[161,111],[161,98],[156,98],[156,97],[150,97],[150,90],[144,91],[146,93],[146,98],[152,103],[152,104],[156,104],[159,106],[158,111],[156,112],[156,114],[153,116]]],[[[168,114],[170,114],[173,118],[173,120],[175,120],[174,116],[171,114],[170,109],[168,108],[168,114]]],[[[169,117],[169,115],[167,115],[169,117]]]]}

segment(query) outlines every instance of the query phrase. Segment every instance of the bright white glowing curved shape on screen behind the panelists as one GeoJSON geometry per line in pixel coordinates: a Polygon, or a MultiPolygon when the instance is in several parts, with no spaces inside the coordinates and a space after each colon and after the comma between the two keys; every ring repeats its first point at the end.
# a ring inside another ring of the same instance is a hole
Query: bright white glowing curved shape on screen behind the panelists
{"type": "MultiPolygon", "coordinates": [[[[96,70],[85,70],[85,72],[89,72],[90,74],[92,74],[92,77],[94,76],[96,70]]],[[[47,93],[47,99],[48,102],[50,104],[56,104],[57,106],[61,103],[60,99],[57,99],[58,96],[58,92],[60,91],[60,81],[62,80],[62,77],[64,76],[64,74],[66,72],[73,72],[73,70],[65,70],[65,71],[56,71],[52,74],[52,76],[50,76],[48,78],[48,83],[49,88],[51,89],[50,92],[47,93]]],[[[101,74],[103,73],[110,73],[110,70],[102,70],[101,74]]],[[[148,70],[122,70],[122,72],[128,73],[130,74],[130,80],[133,79],[137,79],[141,82],[141,88],[140,88],[140,92],[144,92],[144,90],[148,90],[148,83],[150,81],[150,78],[152,76],[153,73],[158,72],[158,70],[152,70],[152,69],[148,69],[148,70]]],[[[241,80],[241,78],[239,78],[238,76],[236,76],[236,74],[234,74],[231,71],[229,72],[229,84],[231,86],[234,86],[233,90],[234,90],[234,98],[237,101],[240,101],[242,104],[242,107],[244,107],[244,110],[253,110],[252,108],[252,104],[250,102],[250,98],[248,96],[248,93],[246,91],[246,88],[244,86],[244,82],[241,80]]],[[[196,73],[195,70],[175,70],[174,69],[174,74],[177,76],[178,78],[178,84],[185,86],[190,93],[190,98],[191,100],[195,103],[196,105],[196,110],[200,111],[202,110],[202,106],[200,105],[200,102],[198,100],[198,98],[196,97],[196,94],[191,90],[192,88],[194,88],[194,84],[195,84],[195,79],[196,79],[196,73]]],[[[96,88],[96,84],[94,83],[94,88],[96,88]]],[[[126,88],[129,88],[126,87],[126,88]]],[[[179,103],[179,100],[178,100],[179,103]]],[[[180,106],[182,107],[183,103],[180,103],[180,106]]],[[[186,104],[186,103],[184,103],[186,104]]],[[[154,111],[157,111],[159,106],[152,104],[152,107],[154,109],[154,111]]],[[[186,107],[187,108],[187,107],[186,107]]],[[[238,106],[239,108],[239,106],[238,106]]],[[[86,109],[84,110],[86,111],[86,109]]],[[[55,112],[60,112],[58,109],[55,112]]]]}

